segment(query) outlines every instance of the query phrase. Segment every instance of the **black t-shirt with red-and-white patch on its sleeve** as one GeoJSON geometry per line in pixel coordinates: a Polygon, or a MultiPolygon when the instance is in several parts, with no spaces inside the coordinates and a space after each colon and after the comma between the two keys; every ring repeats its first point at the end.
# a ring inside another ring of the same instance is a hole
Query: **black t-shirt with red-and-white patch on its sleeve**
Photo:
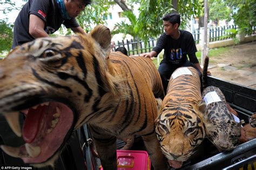
{"type": "Polygon", "coordinates": [[[62,24],[66,28],[77,28],[79,26],[75,18],[66,20],[62,18],[55,0],[29,0],[15,20],[12,49],[17,45],[35,39],[29,34],[30,14],[36,15],[44,21],[44,30],[48,34],[57,31],[62,24]]]}

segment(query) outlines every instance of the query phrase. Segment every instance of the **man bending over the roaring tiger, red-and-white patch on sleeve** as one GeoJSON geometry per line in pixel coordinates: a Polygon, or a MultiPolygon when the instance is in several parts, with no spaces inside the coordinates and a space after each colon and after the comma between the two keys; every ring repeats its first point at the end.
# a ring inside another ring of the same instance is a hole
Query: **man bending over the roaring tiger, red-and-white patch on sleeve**
{"type": "Polygon", "coordinates": [[[73,32],[85,34],[75,17],[91,0],[29,0],[14,24],[12,49],[39,37],[48,37],[62,24],[73,32]]]}

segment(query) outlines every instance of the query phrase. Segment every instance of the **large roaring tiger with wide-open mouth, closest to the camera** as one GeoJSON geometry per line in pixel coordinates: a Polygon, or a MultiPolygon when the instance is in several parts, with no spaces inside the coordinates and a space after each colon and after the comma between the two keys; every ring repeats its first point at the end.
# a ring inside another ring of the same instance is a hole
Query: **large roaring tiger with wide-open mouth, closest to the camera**
{"type": "Polygon", "coordinates": [[[3,151],[37,167],[54,166],[71,133],[87,124],[104,168],[117,169],[116,139],[142,136],[154,169],[168,165],[154,131],[164,96],[156,66],[111,52],[111,32],[38,38],[0,62],[0,113],[23,137],[3,151]],[[25,115],[24,125],[18,114],[25,115]]]}

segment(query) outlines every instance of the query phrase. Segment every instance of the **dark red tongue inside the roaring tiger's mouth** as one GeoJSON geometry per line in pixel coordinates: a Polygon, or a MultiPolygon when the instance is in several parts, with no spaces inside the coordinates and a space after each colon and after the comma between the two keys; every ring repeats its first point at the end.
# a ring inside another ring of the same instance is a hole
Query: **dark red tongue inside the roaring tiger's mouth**
{"type": "Polygon", "coordinates": [[[23,125],[23,139],[26,143],[31,143],[36,138],[39,131],[40,125],[42,123],[45,107],[38,106],[36,110],[31,108],[26,114],[26,119],[23,125]]]}

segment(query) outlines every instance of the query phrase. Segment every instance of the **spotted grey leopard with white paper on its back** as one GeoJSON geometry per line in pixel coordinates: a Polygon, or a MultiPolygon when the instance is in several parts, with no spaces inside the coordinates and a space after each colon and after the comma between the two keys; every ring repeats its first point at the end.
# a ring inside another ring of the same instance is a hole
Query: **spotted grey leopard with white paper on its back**
{"type": "MultiPolygon", "coordinates": [[[[217,96],[212,103],[208,103],[205,114],[205,126],[207,138],[212,144],[218,148],[219,152],[230,151],[234,149],[235,145],[241,136],[241,124],[243,120],[237,123],[228,109],[227,102],[223,92],[218,87],[207,86],[207,69],[209,58],[205,58],[203,68],[203,98],[206,95],[217,96]]],[[[207,99],[206,99],[207,100],[207,99]]]]}

